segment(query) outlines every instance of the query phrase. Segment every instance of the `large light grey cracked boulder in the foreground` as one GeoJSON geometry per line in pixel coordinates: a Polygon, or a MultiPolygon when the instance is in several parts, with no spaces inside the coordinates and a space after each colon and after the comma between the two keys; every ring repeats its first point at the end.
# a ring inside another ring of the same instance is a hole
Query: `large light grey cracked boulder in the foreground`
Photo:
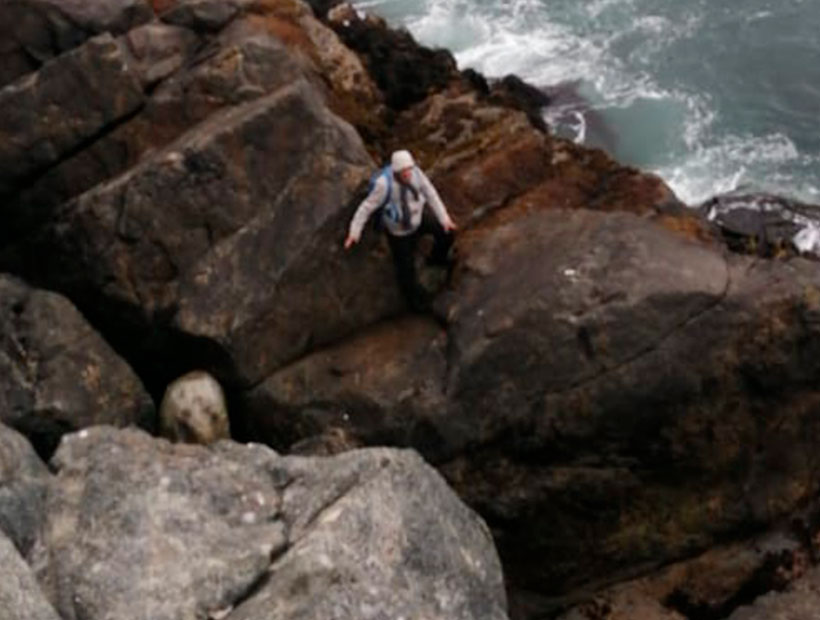
{"type": "Polygon", "coordinates": [[[506,617],[486,526],[412,452],[283,458],[98,427],[53,464],[33,561],[66,620],[506,617]]]}

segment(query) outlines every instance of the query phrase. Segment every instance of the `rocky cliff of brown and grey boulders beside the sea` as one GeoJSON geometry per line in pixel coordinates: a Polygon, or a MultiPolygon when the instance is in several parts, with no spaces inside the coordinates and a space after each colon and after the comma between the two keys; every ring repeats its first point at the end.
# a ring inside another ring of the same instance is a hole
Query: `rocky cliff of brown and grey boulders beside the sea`
{"type": "Polygon", "coordinates": [[[0,420],[46,458],[80,431],[56,475],[0,477],[21,591],[48,601],[26,613],[504,617],[481,522],[371,446],[486,520],[514,618],[723,618],[775,588],[748,585],[766,554],[629,580],[816,496],[817,263],[333,4],[0,3],[0,420]],[[429,314],[381,236],[341,246],[398,147],[460,225],[429,314]],[[302,456],[82,430],[155,431],[193,369],[236,440],[302,456]],[[725,592],[692,594],[698,571],[725,592]]]}

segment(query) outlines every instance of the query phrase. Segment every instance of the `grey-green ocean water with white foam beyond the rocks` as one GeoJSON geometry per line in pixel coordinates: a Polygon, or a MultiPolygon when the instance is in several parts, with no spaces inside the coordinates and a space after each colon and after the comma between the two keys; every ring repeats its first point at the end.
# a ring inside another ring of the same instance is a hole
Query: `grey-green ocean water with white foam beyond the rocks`
{"type": "Polygon", "coordinates": [[[366,0],[459,67],[553,94],[553,130],[696,205],[820,203],[820,0],[366,0]]]}

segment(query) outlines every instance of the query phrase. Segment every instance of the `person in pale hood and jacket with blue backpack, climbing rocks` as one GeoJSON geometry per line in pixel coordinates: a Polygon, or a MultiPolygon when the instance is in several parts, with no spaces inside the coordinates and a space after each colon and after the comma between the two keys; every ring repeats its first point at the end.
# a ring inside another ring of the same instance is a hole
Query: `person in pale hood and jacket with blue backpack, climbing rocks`
{"type": "Polygon", "coordinates": [[[428,263],[447,266],[456,225],[436,188],[416,166],[408,151],[393,153],[390,165],[374,175],[367,198],[350,221],[344,244],[346,250],[359,242],[362,229],[373,213],[379,218],[377,225],[381,224],[387,232],[399,288],[413,310],[426,310],[428,295],[416,279],[416,245],[422,235],[432,235],[433,250],[428,263]],[[435,218],[424,209],[425,205],[430,207],[435,218]]]}

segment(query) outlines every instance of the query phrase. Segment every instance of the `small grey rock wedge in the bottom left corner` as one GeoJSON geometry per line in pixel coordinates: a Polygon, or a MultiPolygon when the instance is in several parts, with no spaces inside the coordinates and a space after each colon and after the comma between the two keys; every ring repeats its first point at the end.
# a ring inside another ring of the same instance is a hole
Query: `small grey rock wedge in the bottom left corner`
{"type": "Polygon", "coordinates": [[[0,531],[0,609],[3,620],[60,620],[31,569],[0,531]]]}

